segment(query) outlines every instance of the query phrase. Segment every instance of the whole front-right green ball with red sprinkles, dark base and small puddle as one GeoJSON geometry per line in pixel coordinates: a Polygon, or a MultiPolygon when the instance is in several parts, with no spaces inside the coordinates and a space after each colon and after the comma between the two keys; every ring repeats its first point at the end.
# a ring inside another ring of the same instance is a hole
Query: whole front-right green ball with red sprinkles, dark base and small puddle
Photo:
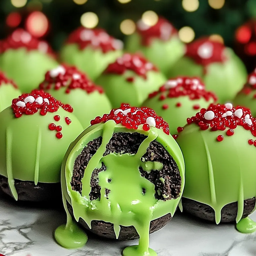
{"type": "Polygon", "coordinates": [[[183,209],[199,218],[237,222],[255,231],[256,120],[247,108],[211,104],[187,119],[176,136],[186,165],[183,209]]]}

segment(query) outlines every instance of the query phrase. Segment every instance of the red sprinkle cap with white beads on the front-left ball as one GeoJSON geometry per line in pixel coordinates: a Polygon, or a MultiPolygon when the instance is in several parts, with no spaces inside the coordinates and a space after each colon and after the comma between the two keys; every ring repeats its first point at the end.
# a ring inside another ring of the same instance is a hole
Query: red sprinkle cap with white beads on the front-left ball
{"type": "Polygon", "coordinates": [[[33,115],[40,109],[41,115],[47,112],[56,112],[59,107],[68,112],[73,112],[73,108],[68,104],[62,104],[49,93],[42,90],[34,90],[31,93],[25,93],[12,101],[12,109],[17,118],[25,115],[33,115]]]}

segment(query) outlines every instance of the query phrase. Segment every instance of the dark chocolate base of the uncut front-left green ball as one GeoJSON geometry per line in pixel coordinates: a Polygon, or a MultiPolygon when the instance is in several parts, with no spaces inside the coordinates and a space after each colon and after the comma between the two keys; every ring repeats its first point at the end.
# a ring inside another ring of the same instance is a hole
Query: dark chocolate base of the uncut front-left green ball
{"type": "MultiPolygon", "coordinates": [[[[62,202],[60,183],[41,183],[35,185],[31,181],[14,179],[15,188],[18,193],[18,201],[60,201],[62,202]]],[[[13,198],[12,191],[8,185],[8,179],[0,175],[0,191],[13,198]]],[[[14,198],[13,198],[14,199],[14,198]]]]}

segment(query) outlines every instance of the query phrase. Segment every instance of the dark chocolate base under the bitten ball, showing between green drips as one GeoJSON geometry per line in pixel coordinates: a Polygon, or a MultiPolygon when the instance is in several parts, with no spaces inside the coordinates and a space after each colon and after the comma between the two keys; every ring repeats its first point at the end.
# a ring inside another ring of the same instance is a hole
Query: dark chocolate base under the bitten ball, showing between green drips
{"type": "MultiPolygon", "coordinates": [[[[68,201],[67,201],[67,206],[68,206],[68,211],[70,215],[74,219],[73,208],[68,201]]],[[[161,218],[152,220],[150,223],[150,234],[163,228],[171,219],[172,219],[171,215],[166,214],[161,218]]],[[[91,229],[90,229],[86,224],[86,222],[82,218],[79,218],[78,224],[82,229],[86,231],[88,230],[101,238],[116,239],[113,223],[93,220],[91,222],[91,229]]],[[[121,230],[118,237],[119,241],[133,240],[137,238],[139,238],[139,235],[133,226],[129,226],[129,227],[121,226],[121,230]]]]}

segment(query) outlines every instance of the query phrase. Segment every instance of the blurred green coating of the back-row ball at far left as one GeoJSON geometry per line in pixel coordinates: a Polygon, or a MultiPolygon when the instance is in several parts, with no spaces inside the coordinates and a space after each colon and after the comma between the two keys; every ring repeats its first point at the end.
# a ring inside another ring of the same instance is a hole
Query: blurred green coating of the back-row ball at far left
{"type": "Polygon", "coordinates": [[[56,60],[37,50],[9,49],[0,54],[0,69],[15,81],[22,93],[36,89],[46,71],[57,66],[56,60]]]}

